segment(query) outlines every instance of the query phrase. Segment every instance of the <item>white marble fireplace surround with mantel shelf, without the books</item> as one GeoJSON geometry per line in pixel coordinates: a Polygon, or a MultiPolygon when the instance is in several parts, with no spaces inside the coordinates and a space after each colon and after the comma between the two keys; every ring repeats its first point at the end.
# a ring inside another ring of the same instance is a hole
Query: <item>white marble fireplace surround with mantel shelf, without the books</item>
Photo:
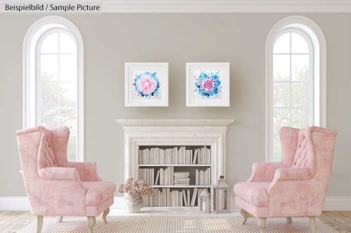
{"type": "Polygon", "coordinates": [[[234,119],[117,119],[124,131],[124,178],[138,177],[139,145],[211,145],[211,180],[226,175],[226,130],[234,119]]]}

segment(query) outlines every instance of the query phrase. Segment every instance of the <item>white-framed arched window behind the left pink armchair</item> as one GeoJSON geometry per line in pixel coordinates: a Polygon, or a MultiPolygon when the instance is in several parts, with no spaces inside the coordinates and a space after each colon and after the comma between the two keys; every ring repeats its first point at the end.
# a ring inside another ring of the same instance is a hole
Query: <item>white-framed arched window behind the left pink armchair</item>
{"type": "Polygon", "coordinates": [[[36,21],[24,41],[24,127],[70,129],[67,156],[83,161],[83,39],[66,18],[36,21]]]}

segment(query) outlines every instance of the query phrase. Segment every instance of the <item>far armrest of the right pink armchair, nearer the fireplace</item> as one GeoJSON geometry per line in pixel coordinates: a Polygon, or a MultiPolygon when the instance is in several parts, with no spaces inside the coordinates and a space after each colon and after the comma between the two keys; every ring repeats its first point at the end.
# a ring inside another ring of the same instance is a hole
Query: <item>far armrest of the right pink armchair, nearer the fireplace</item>
{"type": "Polygon", "coordinates": [[[282,166],[281,162],[254,162],[252,163],[252,174],[246,182],[271,182],[275,170],[282,166]]]}

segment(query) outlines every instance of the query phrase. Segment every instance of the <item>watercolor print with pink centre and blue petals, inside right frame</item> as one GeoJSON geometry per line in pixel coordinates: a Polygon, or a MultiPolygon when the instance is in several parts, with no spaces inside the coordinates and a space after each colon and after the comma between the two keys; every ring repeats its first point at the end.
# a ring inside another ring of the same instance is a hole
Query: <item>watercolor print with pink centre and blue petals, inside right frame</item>
{"type": "Polygon", "coordinates": [[[194,70],[194,99],[222,99],[223,70],[194,70]]]}

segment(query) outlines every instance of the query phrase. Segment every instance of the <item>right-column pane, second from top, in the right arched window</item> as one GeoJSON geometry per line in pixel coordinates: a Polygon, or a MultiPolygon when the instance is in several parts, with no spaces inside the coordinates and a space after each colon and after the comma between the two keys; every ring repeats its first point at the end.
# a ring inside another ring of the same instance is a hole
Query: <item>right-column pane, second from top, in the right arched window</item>
{"type": "Polygon", "coordinates": [[[291,80],[308,81],[309,55],[291,55],[291,80]]]}

